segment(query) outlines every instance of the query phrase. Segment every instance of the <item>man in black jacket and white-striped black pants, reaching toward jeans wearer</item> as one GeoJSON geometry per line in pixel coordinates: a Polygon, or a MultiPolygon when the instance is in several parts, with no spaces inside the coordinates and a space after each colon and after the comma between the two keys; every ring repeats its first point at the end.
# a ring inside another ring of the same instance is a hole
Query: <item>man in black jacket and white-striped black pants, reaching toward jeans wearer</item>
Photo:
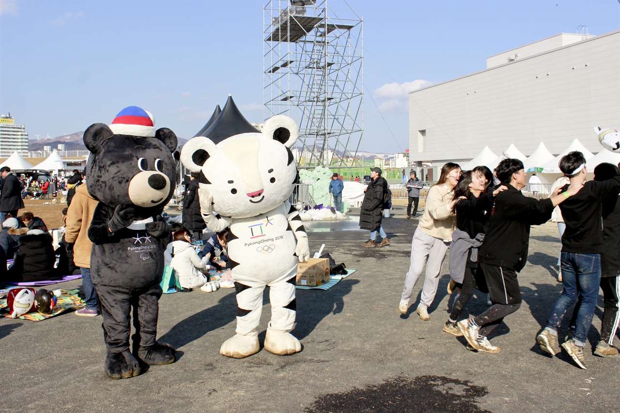
{"type": "MultiPolygon", "coordinates": [[[[553,197],[542,200],[523,196],[525,171],[518,159],[503,159],[495,172],[508,189],[495,198],[489,228],[478,254],[493,305],[479,316],[457,323],[469,343],[468,349],[489,353],[500,352],[499,347],[490,344],[489,334],[505,316],[521,306],[516,273],[525,267],[528,257],[529,226],[546,223],[553,208],[567,199],[559,190],[553,197]]],[[[582,187],[583,184],[575,183],[565,194],[570,197],[582,187]]]]}

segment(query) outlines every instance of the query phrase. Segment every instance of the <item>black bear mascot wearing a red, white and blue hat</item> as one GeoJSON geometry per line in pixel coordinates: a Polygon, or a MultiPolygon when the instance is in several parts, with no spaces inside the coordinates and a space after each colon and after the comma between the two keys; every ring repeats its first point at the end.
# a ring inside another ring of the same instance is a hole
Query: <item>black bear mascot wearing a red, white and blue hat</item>
{"type": "Polygon", "coordinates": [[[103,316],[105,373],[130,378],[141,373],[141,363],[164,365],[176,357],[156,335],[168,239],[161,213],[175,189],[177,136],[167,128],[156,131],[153,116],[131,106],[110,127],[91,125],[84,144],[91,151],[86,185],[100,201],[88,236],[92,283],[103,316]]]}

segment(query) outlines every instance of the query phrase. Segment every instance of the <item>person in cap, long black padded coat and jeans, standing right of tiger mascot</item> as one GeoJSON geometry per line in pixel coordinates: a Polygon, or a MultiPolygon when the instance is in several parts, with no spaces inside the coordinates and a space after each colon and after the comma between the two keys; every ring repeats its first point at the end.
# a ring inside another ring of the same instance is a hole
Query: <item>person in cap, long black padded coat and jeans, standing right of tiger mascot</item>
{"type": "Polygon", "coordinates": [[[381,176],[381,168],[374,167],[370,170],[370,183],[364,190],[364,200],[361,203],[360,228],[370,231],[370,239],[362,244],[363,247],[376,246],[374,239],[379,231],[381,243],[379,247],[389,244],[389,239],[381,228],[381,216],[383,215],[383,203],[387,193],[387,180],[381,176]]]}

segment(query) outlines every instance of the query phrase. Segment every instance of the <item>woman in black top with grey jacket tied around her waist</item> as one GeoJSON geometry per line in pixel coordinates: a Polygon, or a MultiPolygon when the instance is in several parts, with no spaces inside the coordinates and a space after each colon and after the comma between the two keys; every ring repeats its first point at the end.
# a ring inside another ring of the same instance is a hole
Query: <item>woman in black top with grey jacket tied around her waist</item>
{"type": "Polygon", "coordinates": [[[463,335],[456,325],[461,311],[474,293],[474,288],[482,293],[489,293],[484,274],[477,262],[478,248],[484,240],[484,233],[493,208],[495,196],[505,189],[504,185],[494,191],[487,192],[485,171],[476,167],[461,175],[454,188],[456,205],[456,229],[452,234],[450,245],[449,269],[450,277],[461,292],[454,300],[452,311],[443,326],[443,331],[453,335],[463,335]]]}

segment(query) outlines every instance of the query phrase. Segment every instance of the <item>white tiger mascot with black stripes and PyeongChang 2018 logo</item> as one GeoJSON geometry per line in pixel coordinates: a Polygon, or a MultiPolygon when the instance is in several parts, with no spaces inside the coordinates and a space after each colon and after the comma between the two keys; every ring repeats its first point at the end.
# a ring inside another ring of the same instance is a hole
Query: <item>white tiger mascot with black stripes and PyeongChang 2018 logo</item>
{"type": "Polygon", "coordinates": [[[241,133],[218,144],[197,136],[182,149],[185,167],[201,172],[200,211],[209,229],[230,227],[228,257],[237,293],[237,334],[219,349],[227,357],[259,352],[257,327],[267,285],[272,318],[265,350],[278,355],[301,351],[290,331],[295,322],[297,264],[308,260],[310,251],[301,218],[288,202],[298,180],[290,150],[298,137],[294,120],[276,115],[265,122],[262,133],[241,133]]]}

